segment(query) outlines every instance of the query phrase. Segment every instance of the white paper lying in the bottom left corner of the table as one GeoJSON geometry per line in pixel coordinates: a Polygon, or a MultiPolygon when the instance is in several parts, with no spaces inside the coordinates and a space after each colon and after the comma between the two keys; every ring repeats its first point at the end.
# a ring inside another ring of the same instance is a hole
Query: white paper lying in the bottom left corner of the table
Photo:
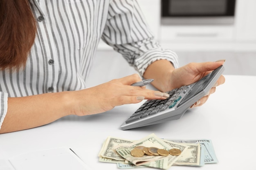
{"type": "Polygon", "coordinates": [[[0,162],[0,170],[92,170],[69,148],[28,152],[0,162]]]}

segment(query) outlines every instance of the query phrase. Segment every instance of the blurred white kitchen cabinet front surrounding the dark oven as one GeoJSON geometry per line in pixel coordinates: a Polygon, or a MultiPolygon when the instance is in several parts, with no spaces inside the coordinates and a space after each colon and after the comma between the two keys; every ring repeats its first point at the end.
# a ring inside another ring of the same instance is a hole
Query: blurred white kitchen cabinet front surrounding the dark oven
{"type": "MultiPolygon", "coordinates": [[[[256,0],[236,0],[232,25],[161,25],[160,0],[138,0],[150,29],[175,51],[256,51],[256,0]]],[[[103,43],[99,49],[108,49],[103,43]]]]}

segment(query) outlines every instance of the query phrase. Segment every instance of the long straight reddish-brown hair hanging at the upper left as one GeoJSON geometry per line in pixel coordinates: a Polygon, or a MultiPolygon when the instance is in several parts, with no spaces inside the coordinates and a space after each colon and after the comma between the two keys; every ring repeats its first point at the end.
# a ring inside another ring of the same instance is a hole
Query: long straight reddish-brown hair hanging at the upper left
{"type": "Polygon", "coordinates": [[[24,67],[35,36],[28,0],[0,0],[0,70],[24,67]]]}

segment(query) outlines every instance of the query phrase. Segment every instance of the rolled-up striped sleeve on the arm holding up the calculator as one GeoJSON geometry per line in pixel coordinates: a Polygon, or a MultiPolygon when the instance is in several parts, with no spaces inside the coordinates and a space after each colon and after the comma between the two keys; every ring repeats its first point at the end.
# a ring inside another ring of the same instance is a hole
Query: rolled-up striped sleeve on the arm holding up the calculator
{"type": "Polygon", "coordinates": [[[136,0],[112,0],[102,40],[121,53],[141,76],[152,62],[165,59],[177,68],[178,57],[154,39],[136,0]]]}

